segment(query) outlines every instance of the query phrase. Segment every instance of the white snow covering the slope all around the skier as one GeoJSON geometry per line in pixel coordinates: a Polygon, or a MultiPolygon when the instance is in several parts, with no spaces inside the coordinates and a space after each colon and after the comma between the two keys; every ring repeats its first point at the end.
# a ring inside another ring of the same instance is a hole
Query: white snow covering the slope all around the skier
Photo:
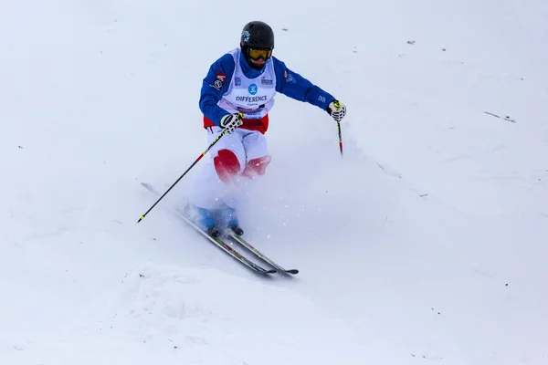
{"type": "Polygon", "coordinates": [[[1,364],[548,363],[545,2],[1,9],[1,364]],[[201,80],[256,18],[348,107],[343,157],[324,111],[270,114],[240,220],[292,278],[172,213],[194,170],[136,224],[140,182],[205,150],[201,80]]]}

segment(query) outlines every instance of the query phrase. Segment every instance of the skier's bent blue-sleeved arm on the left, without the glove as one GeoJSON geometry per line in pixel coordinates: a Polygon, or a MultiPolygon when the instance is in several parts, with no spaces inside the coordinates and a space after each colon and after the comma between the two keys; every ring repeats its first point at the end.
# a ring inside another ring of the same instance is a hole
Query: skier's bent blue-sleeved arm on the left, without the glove
{"type": "Polygon", "coordinates": [[[230,54],[226,54],[211,65],[202,82],[200,110],[207,119],[213,121],[216,125],[220,125],[221,119],[228,113],[227,110],[219,108],[217,102],[227,92],[234,68],[234,58],[230,54]]]}

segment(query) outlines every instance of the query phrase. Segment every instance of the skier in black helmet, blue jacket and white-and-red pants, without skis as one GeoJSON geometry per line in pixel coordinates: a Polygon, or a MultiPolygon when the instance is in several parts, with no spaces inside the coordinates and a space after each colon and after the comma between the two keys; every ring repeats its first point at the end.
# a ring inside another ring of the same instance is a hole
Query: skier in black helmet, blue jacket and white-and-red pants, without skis
{"type": "Polygon", "coordinates": [[[270,162],[265,133],[277,92],[326,110],[340,121],[346,107],[331,94],[272,56],[274,32],[261,21],[243,27],[240,47],[218,58],[204,78],[199,99],[211,161],[198,173],[184,213],[208,235],[243,235],[238,197],[250,191],[270,162]]]}

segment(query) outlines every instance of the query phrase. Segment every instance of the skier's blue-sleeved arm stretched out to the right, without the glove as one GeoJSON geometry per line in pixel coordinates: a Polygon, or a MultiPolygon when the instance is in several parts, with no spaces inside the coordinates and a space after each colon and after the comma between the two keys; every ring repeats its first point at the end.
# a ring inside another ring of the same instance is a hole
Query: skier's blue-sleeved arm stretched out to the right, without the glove
{"type": "Polygon", "coordinates": [[[291,99],[308,102],[327,111],[329,104],[335,100],[330,93],[291,71],[278,58],[272,57],[272,60],[276,72],[276,91],[291,99]]]}

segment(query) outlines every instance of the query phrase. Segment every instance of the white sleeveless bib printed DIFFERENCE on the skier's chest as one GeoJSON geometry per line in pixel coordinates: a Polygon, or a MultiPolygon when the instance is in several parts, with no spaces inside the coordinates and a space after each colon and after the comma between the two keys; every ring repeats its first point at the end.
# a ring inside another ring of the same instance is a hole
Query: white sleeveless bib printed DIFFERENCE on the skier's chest
{"type": "Polygon", "coordinates": [[[228,90],[217,105],[229,113],[244,113],[246,119],[260,119],[274,105],[276,74],[272,58],[265,63],[265,71],[258,78],[247,78],[239,64],[240,48],[230,52],[236,68],[228,90]]]}

